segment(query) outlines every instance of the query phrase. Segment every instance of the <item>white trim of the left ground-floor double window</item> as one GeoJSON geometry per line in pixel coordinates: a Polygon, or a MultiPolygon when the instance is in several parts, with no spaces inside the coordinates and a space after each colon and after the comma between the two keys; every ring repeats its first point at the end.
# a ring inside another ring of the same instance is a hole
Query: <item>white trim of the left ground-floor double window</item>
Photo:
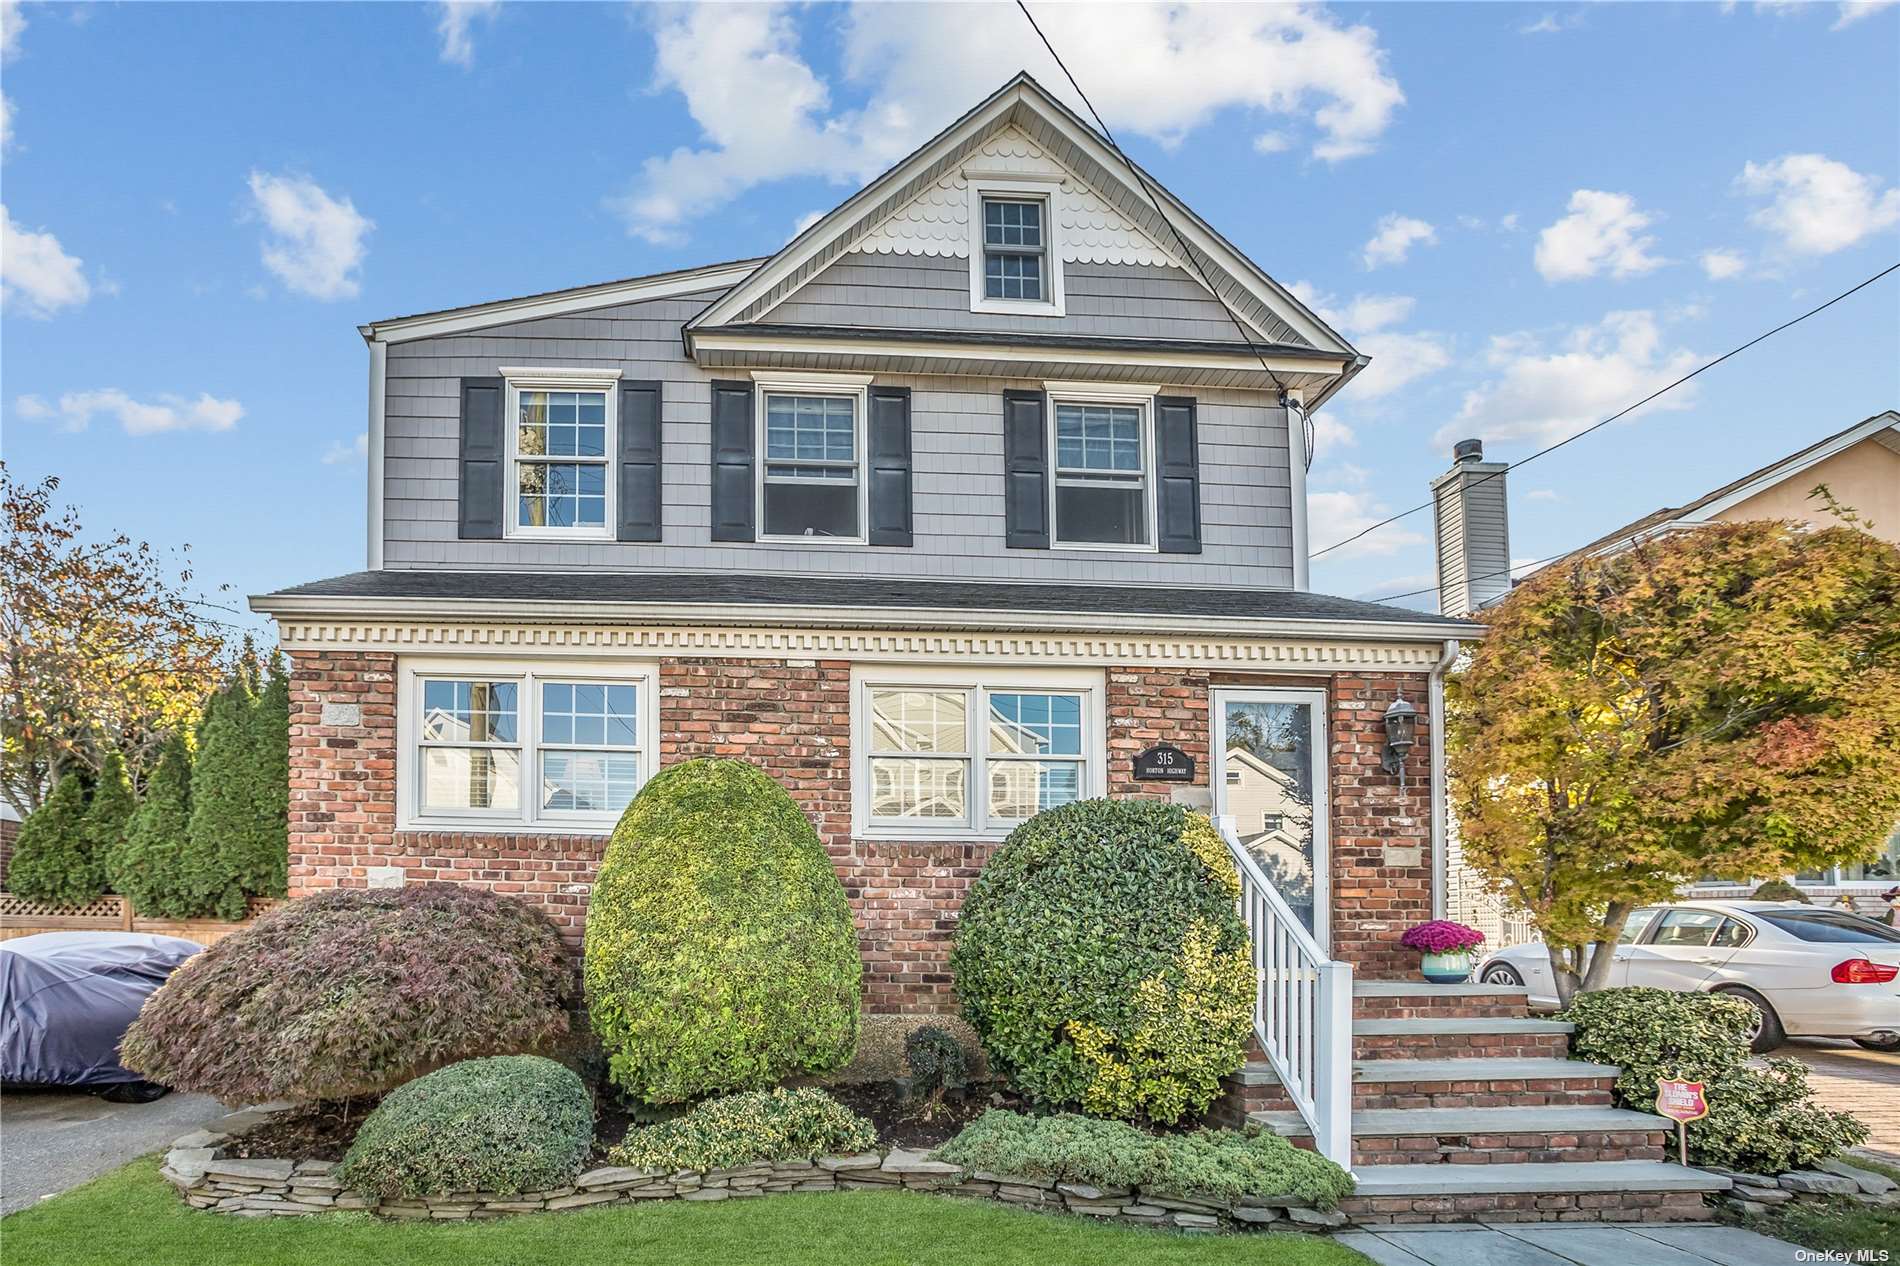
{"type": "MultiPolygon", "coordinates": [[[[494,656],[408,658],[397,662],[395,701],[395,829],[397,831],[505,831],[509,834],[606,834],[619,812],[576,814],[542,810],[542,682],[587,681],[633,686],[636,690],[636,728],[640,779],[635,791],[659,772],[659,667],[627,660],[500,660],[494,656]],[[515,724],[521,751],[521,804],[513,810],[422,812],[422,726],[416,715],[422,679],[513,681],[517,692],[515,724]]],[[[555,745],[568,751],[574,745],[555,745]]]]}

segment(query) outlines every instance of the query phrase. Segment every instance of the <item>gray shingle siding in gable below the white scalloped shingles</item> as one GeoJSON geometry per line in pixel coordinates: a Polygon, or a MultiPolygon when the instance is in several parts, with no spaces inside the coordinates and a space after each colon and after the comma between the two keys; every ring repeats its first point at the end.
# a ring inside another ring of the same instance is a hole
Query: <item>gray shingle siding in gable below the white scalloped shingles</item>
{"type": "MultiPolygon", "coordinates": [[[[1220,302],[1180,268],[1062,264],[1066,316],[969,310],[969,260],[851,251],[758,316],[771,325],[973,329],[1239,342],[1220,302]]],[[[1252,331],[1254,338],[1262,335],[1252,331]]]]}

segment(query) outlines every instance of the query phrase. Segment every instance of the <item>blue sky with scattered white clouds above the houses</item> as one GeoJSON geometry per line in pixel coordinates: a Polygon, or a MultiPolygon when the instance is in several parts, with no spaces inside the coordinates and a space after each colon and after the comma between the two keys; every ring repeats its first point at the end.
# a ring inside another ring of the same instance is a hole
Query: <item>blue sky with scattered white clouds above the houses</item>
{"type": "MultiPolygon", "coordinates": [[[[0,426],[236,593],[363,565],[374,317],[777,249],[1013,70],[1009,6],[11,4],[0,426]]],[[[1313,540],[1900,259],[1900,8],[1037,6],[1374,367],[1313,540]]],[[[1900,274],[1512,475],[1537,559],[1900,403],[1900,274]]],[[[1429,584],[1425,517],[1315,563],[1429,584]]],[[[1429,599],[1410,599],[1429,603],[1429,599]]]]}

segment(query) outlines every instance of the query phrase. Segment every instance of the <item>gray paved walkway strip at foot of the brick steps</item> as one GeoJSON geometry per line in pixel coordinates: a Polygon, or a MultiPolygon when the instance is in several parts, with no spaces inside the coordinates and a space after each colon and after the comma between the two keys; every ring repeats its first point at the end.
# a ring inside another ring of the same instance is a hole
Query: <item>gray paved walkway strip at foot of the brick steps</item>
{"type": "Polygon", "coordinates": [[[1794,1266],[1796,1247],[1733,1226],[1490,1222],[1334,1236],[1378,1266],[1794,1266]]]}

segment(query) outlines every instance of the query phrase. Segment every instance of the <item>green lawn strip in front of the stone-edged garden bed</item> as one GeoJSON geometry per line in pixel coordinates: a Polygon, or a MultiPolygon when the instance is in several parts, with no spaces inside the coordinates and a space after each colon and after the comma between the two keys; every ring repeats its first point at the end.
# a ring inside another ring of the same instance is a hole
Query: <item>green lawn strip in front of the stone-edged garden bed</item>
{"type": "Polygon", "coordinates": [[[0,1220],[8,1266],[1366,1266],[1294,1234],[1184,1236],[908,1192],[654,1201],[494,1222],[380,1222],[361,1213],[232,1218],[186,1209],[142,1160],[0,1220]]]}

